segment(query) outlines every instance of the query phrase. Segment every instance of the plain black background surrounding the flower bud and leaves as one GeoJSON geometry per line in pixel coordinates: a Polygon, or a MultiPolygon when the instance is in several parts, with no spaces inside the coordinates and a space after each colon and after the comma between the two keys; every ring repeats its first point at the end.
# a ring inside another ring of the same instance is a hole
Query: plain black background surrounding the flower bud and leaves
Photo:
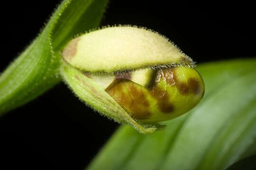
{"type": "MultiPolygon", "coordinates": [[[[44,25],[59,0],[1,3],[0,72],[44,25]]],[[[246,1],[110,0],[101,26],[145,26],[197,63],[256,56],[255,11],[246,1]]],[[[56,85],[0,118],[0,166],[82,170],[119,125],[56,85]]]]}

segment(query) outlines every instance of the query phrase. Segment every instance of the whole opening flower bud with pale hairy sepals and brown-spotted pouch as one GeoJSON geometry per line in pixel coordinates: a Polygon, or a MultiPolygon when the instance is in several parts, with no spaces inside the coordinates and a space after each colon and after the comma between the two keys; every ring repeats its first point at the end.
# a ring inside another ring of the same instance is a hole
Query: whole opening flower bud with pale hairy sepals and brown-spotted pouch
{"type": "Polygon", "coordinates": [[[151,30],[119,26],[83,34],[62,57],[62,75],[78,97],[144,134],[191,110],[204,94],[192,59],[151,30]]]}

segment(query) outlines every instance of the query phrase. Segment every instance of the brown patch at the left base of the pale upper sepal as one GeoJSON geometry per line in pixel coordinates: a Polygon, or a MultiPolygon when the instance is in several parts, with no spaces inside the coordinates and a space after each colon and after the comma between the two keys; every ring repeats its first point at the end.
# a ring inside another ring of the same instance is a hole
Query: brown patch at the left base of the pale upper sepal
{"type": "Polygon", "coordinates": [[[73,39],[62,51],[62,57],[64,60],[72,59],[77,51],[77,42],[79,42],[80,37],[73,39]]]}

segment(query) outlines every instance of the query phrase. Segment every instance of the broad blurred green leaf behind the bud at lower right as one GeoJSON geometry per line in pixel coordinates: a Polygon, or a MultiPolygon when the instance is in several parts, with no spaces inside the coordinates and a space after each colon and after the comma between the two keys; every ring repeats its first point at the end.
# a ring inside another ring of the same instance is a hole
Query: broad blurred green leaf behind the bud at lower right
{"type": "Polygon", "coordinates": [[[120,127],[88,170],[225,170],[256,154],[256,59],[201,64],[205,96],[167,128],[120,127]]]}

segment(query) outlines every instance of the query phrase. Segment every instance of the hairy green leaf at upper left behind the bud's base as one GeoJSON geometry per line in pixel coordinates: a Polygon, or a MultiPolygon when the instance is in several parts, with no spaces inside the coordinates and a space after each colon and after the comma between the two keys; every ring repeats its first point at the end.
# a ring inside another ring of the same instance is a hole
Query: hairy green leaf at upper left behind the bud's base
{"type": "Polygon", "coordinates": [[[43,31],[0,75],[0,115],[57,84],[60,50],[74,35],[99,26],[107,0],[64,0],[43,31]]]}

